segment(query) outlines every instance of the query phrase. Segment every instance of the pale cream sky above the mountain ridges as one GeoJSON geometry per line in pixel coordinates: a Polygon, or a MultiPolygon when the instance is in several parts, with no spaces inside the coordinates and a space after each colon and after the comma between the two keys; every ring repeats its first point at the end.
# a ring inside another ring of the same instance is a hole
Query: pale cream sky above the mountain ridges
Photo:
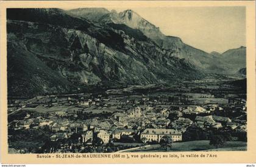
{"type": "MultiPolygon", "coordinates": [[[[112,9],[108,9],[112,10],[112,9]]],[[[117,12],[126,9],[115,9],[117,12]]],[[[245,7],[166,7],[132,9],[165,35],[206,52],[246,46],[245,7]]]]}

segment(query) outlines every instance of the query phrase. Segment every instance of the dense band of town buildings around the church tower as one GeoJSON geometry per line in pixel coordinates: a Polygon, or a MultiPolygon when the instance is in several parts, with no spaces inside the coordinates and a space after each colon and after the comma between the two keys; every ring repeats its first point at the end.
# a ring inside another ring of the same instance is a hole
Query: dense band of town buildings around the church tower
{"type": "Polygon", "coordinates": [[[223,110],[217,105],[208,105],[208,109],[205,108],[200,106],[180,107],[179,110],[162,108],[160,112],[157,112],[154,107],[134,107],[127,112],[115,112],[108,118],[77,119],[76,121],[63,118],[62,115],[65,112],[52,112],[47,118],[43,116],[30,118],[27,114],[26,118],[21,121],[12,121],[12,127],[17,130],[49,126],[52,141],[69,138],[73,133],[80,133],[82,135],[80,141],[83,143],[91,143],[93,137],[101,138],[104,143],[108,143],[110,138],[120,140],[123,135],[130,138],[138,135],[140,139],[146,138],[144,141],[157,142],[163,136],[169,135],[173,141],[182,141],[182,133],[191,124],[202,129],[230,127],[232,130],[238,129],[246,132],[246,121],[240,119],[232,121],[228,117],[210,115],[216,108],[223,110]],[[199,116],[202,113],[207,115],[199,116]],[[169,118],[173,115],[176,119],[171,121],[169,118]],[[196,115],[196,117],[185,118],[186,115],[196,115]]]}

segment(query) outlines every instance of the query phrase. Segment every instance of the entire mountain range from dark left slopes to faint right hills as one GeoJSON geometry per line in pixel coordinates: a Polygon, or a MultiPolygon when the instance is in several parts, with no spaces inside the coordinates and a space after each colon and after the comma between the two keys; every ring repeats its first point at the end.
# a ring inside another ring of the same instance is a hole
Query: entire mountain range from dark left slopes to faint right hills
{"type": "MultiPolygon", "coordinates": [[[[7,9],[9,96],[67,93],[94,84],[151,84],[236,75],[246,48],[208,54],[132,10],[7,9]]],[[[243,71],[243,70],[242,70],[243,71]]]]}

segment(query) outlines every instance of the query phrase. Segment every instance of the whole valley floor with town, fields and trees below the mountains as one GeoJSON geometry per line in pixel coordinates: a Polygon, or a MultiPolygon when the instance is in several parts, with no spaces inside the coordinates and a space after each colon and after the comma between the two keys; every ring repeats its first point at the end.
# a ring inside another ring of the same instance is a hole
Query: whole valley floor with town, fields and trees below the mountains
{"type": "Polygon", "coordinates": [[[244,80],[12,97],[8,100],[9,151],[243,151],[247,108],[240,82],[244,80]],[[163,137],[171,138],[171,149],[163,147],[163,137]],[[224,143],[210,144],[211,138],[224,143]]]}

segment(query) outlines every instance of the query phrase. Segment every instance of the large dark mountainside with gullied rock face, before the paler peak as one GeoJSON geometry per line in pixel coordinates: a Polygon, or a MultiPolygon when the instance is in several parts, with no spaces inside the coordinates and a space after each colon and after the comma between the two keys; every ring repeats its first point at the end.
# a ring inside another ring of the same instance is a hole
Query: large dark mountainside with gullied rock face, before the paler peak
{"type": "Polygon", "coordinates": [[[169,83],[205,76],[124,24],[88,22],[59,9],[7,9],[7,19],[12,95],[68,92],[87,83],[169,83]]]}

